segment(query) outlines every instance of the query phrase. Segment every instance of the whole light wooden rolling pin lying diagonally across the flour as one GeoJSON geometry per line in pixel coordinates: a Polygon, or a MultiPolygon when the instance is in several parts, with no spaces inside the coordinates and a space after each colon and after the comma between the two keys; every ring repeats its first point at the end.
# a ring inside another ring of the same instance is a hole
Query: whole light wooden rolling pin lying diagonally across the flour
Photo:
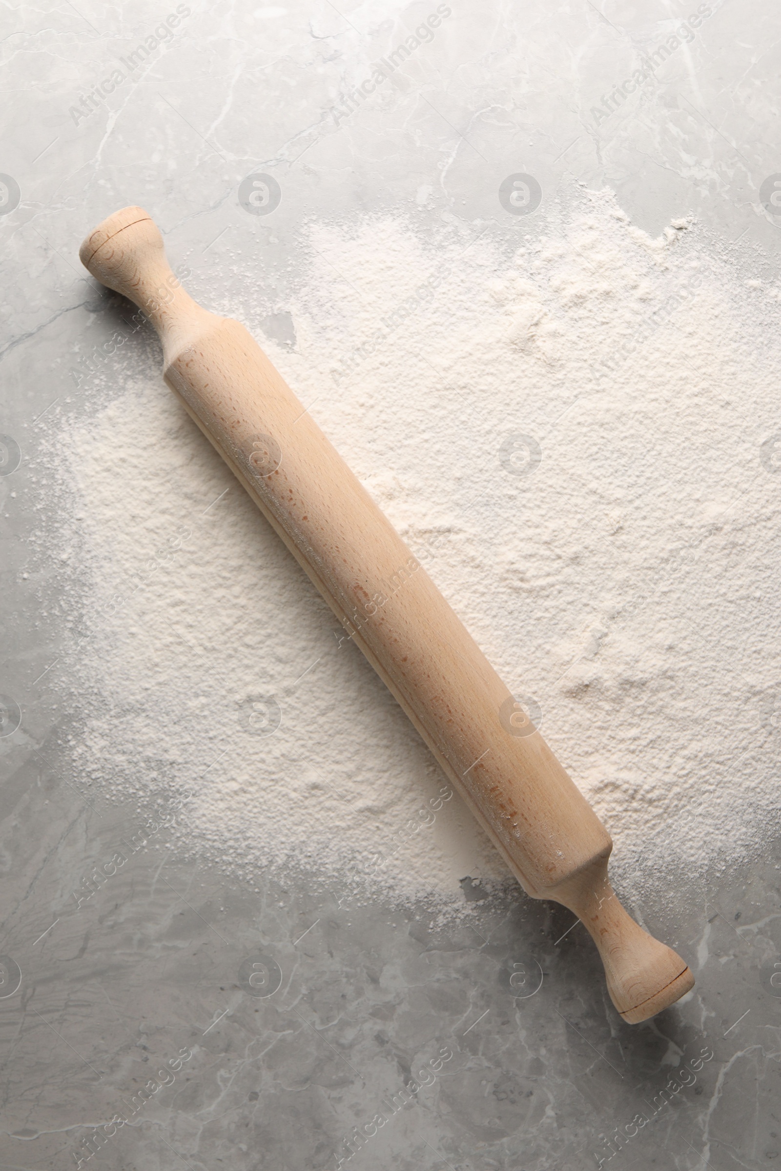
{"type": "Polygon", "coordinates": [[[171,272],[141,207],[84,240],[82,262],[150,319],[164,376],[386,683],[533,898],[568,906],[596,943],[625,1021],[694,979],[608,881],[612,842],[425,569],[244,326],[171,272]],[[389,583],[393,583],[389,586],[389,583]]]}

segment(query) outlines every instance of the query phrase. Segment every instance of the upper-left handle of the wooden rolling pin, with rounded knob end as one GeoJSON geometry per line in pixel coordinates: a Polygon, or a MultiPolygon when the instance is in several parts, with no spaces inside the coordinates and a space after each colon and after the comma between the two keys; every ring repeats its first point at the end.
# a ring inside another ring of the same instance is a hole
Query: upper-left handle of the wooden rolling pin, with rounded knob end
{"type": "Polygon", "coordinates": [[[165,367],[221,320],[181,288],[165,258],[163,237],[143,207],[124,207],[104,220],[84,240],[80,255],[93,276],[149,317],[163,342],[165,367]]]}

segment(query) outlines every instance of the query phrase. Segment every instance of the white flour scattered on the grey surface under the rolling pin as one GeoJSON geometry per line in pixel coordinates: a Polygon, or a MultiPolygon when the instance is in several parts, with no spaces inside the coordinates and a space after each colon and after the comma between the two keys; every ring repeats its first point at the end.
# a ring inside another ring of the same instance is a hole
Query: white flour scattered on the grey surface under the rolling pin
{"type": "MultiPolygon", "coordinates": [[[[546,215],[479,239],[311,225],[306,280],[270,313],[247,258],[226,261],[240,299],[190,287],[259,335],[412,548],[436,547],[429,571],[540,705],[619,879],[664,888],[777,831],[781,474],[760,447],[781,427],[779,294],[759,259],[685,221],[651,239],[608,192],[546,215]],[[261,336],[290,320],[294,348],[261,336]],[[527,474],[516,434],[541,451],[527,474]]],[[[444,900],[501,879],[139,336],[103,364],[109,405],[57,438],[89,569],[82,779],[193,786],[184,845],[244,876],[444,900]]]]}

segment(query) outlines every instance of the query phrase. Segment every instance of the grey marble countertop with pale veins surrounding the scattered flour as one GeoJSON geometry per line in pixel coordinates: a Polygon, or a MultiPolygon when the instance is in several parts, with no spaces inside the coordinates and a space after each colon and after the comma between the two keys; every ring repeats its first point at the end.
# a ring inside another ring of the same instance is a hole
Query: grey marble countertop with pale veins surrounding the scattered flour
{"type": "MultiPolygon", "coordinates": [[[[196,295],[220,281],[228,301],[240,274],[232,287],[221,239],[273,267],[302,219],[406,205],[422,185],[433,217],[512,233],[500,189],[516,173],[544,199],[608,184],[653,233],[692,211],[775,266],[772,6],[451,7],[365,101],[350,94],[369,63],[433,0],[4,9],[2,1167],[727,1171],[781,1157],[772,841],[761,864],[671,875],[676,910],[639,908],[698,985],[630,1027],[559,906],[466,884],[478,913],[443,929],[425,908],[303,883],[255,893],[165,861],[172,803],[139,820],[69,772],[61,581],[54,563],[28,571],[27,537],[60,507],[41,437],[90,409],[74,352],[114,328],[77,259],[107,214],[146,206],[196,295]],[[611,102],[664,43],[653,76],[611,102]],[[87,897],[121,848],[126,865],[87,897]]],[[[259,330],[285,333],[259,314],[259,330]]]]}

